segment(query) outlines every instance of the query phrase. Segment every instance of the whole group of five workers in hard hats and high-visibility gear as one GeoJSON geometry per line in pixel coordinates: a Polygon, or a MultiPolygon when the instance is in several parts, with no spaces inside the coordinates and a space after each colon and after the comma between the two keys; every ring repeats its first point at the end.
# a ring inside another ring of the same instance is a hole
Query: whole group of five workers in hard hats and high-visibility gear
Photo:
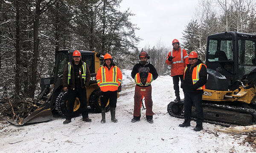
{"type": "MultiPolygon", "coordinates": [[[[202,94],[207,82],[207,66],[203,64],[198,54],[192,51],[189,55],[185,49],[180,48],[177,39],[172,41],[173,49],[166,58],[166,64],[171,65],[171,77],[175,90],[175,102],[180,101],[179,81],[184,93],[184,122],[180,127],[189,127],[191,121],[192,105],[195,105],[197,115],[195,131],[203,129],[203,108],[202,94]]],[[[158,74],[154,66],[148,61],[150,56],[141,51],[139,54],[140,62],[134,65],[131,77],[134,79],[134,113],[131,122],[140,121],[140,110],[142,100],[145,99],[146,120],[153,123],[153,101],[151,98],[151,82],[157,79],[158,74]]],[[[122,81],[122,72],[113,63],[110,54],[105,54],[104,65],[99,68],[96,75],[97,83],[101,89],[101,123],[105,123],[105,107],[109,100],[111,110],[111,121],[116,123],[115,118],[117,90],[122,81]]],[[[81,60],[81,53],[76,50],[73,52],[73,59],[67,63],[63,73],[63,90],[68,89],[68,99],[66,108],[66,120],[63,124],[71,122],[76,97],[79,98],[82,107],[82,120],[91,122],[88,118],[86,87],[90,82],[90,70],[85,62],[81,60]]]]}

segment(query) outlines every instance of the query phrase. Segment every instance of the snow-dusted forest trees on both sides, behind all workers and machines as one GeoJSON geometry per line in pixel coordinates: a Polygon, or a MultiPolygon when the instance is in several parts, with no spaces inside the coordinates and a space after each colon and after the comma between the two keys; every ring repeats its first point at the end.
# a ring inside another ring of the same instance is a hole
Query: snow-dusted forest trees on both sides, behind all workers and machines
{"type": "MultiPolygon", "coordinates": [[[[140,51],[158,74],[169,75],[166,57],[172,45],[137,48],[139,28],[122,0],[0,0],[0,99],[35,97],[41,78],[52,76],[55,51],[78,49],[110,53],[122,69],[131,69],[140,51]]],[[[254,0],[199,0],[195,16],[182,32],[181,47],[205,60],[207,36],[225,31],[256,33],[254,0]]],[[[180,39],[180,38],[177,38],[180,39]]],[[[172,40],[170,40],[172,41],[172,40]]],[[[2,101],[2,100],[1,100],[2,101]]]]}

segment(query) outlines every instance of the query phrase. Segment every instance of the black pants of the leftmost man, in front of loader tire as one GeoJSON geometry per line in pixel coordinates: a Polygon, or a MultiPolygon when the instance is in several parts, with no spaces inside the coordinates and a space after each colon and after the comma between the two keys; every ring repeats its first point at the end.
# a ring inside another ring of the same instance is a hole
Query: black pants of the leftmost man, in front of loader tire
{"type": "Polygon", "coordinates": [[[79,89],[75,88],[75,90],[72,90],[69,88],[68,94],[67,94],[66,119],[72,118],[76,97],[79,98],[80,107],[81,107],[80,110],[83,118],[88,117],[86,88],[79,88],[79,89]]]}

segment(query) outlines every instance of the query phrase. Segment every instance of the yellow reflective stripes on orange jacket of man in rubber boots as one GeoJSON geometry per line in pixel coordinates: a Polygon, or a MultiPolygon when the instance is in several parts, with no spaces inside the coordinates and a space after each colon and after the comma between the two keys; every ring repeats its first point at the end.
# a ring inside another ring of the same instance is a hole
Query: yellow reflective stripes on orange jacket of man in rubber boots
{"type": "Polygon", "coordinates": [[[105,73],[105,68],[103,68],[103,66],[101,67],[102,70],[102,82],[100,82],[100,80],[97,80],[97,82],[99,83],[99,87],[104,87],[107,85],[112,85],[112,86],[119,86],[118,85],[118,80],[117,81],[117,71],[116,71],[116,66],[113,67],[113,82],[106,82],[106,73],[105,73]]]}

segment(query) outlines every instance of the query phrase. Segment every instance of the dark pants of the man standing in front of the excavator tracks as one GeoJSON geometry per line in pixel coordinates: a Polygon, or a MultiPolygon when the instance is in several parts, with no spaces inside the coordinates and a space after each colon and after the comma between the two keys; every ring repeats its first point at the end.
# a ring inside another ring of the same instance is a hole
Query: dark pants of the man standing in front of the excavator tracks
{"type": "Polygon", "coordinates": [[[196,124],[202,125],[204,114],[203,114],[203,107],[202,107],[202,94],[194,94],[194,93],[184,93],[184,118],[185,121],[191,118],[191,109],[192,105],[195,105],[195,112],[196,112],[196,124]]]}

